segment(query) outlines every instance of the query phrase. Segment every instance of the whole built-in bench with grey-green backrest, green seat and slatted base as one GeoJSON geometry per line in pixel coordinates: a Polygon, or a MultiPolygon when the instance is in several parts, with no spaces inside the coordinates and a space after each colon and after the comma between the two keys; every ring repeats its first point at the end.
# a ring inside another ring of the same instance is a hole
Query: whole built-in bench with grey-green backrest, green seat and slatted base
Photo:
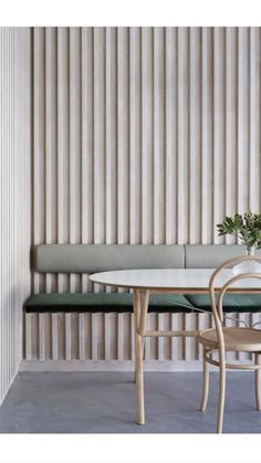
{"type": "MultiPolygon", "coordinates": [[[[60,275],[85,275],[87,281],[92,273],[113,270],[213,269],[243,252],[239,245],[42,244],[34,250],[33,272],[49,283],[60,275]]],[[[105,293],[91,282],[86,287],[82,293],[70,286],[42,291],[25,302],[25,359],[133,359],[132,294],[105,293]]],[[[205,294],[152,294],[148,324],[157,329],[198,329],[211,326],[210,312],[205,294]]],[[[261,296],[228,295],[225,312],[240,313],[246,323],[259,322],[261,296]]],[[[145,358],[197,359],[197,340],[147,339],[145,358]]]]}

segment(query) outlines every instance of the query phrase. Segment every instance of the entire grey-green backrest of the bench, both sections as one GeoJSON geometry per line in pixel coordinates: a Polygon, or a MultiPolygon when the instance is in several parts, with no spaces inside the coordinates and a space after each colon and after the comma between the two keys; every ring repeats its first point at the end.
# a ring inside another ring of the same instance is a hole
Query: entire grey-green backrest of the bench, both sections
{"type": "MultiPolygon", "coordinates": [[[[258,251],[260,253],[260,251],[258,251]]],[[[238,244],[41,244],[40,273],[95,273],[124,269],[216,269],[243,255],[238,244]]]]}

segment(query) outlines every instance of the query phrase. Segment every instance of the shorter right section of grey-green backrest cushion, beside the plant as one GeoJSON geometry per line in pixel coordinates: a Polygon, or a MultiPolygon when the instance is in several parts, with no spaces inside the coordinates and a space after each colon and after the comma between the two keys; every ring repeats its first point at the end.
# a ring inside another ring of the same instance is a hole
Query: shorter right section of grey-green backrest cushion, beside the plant
{"type": "Polygon", "coordinates": [[[229,259],[244,255],[239,244],[187,244],[185,246],[186,269],[216,269],[229,259]]]}

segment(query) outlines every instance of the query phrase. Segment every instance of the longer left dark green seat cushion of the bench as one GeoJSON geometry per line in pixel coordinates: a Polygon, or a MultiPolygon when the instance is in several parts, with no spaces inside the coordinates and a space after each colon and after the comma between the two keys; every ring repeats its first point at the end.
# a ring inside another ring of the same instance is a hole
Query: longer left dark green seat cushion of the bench
{"type": "MultiPolygon", "coordinates": [[[[129,293],[52,293],[31,296],[24,304],[27,313],[33,312],[132,312],[129,293]]],[[[192,305],[182,294],[153,294],[149,312],[192,312],[192,305]]]]}

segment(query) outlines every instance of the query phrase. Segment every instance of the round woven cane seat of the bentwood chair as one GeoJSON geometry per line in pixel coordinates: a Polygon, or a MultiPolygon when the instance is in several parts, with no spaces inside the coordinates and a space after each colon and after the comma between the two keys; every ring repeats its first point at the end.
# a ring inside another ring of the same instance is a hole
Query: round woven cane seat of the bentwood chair
{"type": "MultiPolygon", "coordinates": [[[[257,352],[261,351],[261,329],[223,328],[226,350],[257,352]]],[[[205,329],[199,334],[203,346],[218,348],[218,336],[215,328],[205,329]]]]}

